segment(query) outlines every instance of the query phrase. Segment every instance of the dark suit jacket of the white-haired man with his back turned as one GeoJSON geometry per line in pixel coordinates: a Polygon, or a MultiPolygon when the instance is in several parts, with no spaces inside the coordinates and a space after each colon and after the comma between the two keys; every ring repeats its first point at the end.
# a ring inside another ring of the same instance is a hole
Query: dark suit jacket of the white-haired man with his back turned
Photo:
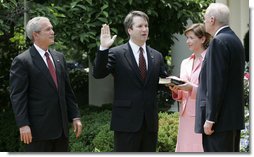
{"type": "Polygon", "coordinates": [[[205,120],[215,132],[244,128],[244,48],[235,33],[223,28],[209,45],[200,72],[195,132],[204,133],[205,120]]]}

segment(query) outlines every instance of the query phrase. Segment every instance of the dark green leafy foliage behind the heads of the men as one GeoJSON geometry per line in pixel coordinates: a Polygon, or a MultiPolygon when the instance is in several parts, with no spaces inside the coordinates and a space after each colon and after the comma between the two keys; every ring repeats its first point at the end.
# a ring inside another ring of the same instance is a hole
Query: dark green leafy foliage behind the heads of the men
{"type": "Polygon", "coordinates": [[[187,20],[201,21],[201,13],[212,0],[23,0],[0,1],[0,103],[9,104],[9,69],[12,59],[31,42],[25,40],[24,18],[47,16],[56,35],[53,48],[65,53],[67,60],[75,60],[88,67],[99,44],[103,23],[117,34],[115,45],[128,40],[123,19],[131,10],[142,10],[150,17],[148,45],[170,56],[174,34],[182,33],[187,20]],[[40,2],[40,3],[38,3],[40,2]],[[25,16],[23,16],[25,14],[25,16]],[[158,42],[160,41],[160,42],[158,42]]]}

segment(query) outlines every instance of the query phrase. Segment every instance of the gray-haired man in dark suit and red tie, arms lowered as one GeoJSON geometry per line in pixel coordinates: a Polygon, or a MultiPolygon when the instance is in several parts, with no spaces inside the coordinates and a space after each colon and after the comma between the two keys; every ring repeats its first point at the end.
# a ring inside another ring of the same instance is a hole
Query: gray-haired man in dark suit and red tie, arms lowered
{"type": "Polygon", "coordinates": [[[63,54],[49,50],[53,27],[46,17],[28,21],[33,45],[12,62],[10,99],[26,151],[68,151],[68,122],[81,133],[79,108],[63,54]]]}

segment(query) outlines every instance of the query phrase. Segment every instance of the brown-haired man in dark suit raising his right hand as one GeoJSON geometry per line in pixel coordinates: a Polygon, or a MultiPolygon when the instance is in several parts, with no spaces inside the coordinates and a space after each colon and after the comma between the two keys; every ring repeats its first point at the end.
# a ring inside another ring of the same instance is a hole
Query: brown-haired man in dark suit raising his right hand
{"type": "Polygon", "coordinates": [[[114,77],[114,102],[111,129],[117,152],[156,151],[158,106],[156,93],[159,77],[167,77],[164,60],[158,51],[146,45],[148,16],[130,12],[124,26],[129,42],[109,49],[110,28],[101,28],[100,49],[95,59],[93,76],[114,77]]]}

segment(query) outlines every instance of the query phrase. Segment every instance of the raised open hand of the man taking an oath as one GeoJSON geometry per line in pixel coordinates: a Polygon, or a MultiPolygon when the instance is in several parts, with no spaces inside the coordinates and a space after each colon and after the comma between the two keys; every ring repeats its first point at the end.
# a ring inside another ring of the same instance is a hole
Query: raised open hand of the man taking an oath
{"type": "Polygon", "coordinates": [[[100,44],[103,48],[109,48],[115,41],[117,35],[111,38],[109,25],[103,24],[101,27],[100,44]]]}

